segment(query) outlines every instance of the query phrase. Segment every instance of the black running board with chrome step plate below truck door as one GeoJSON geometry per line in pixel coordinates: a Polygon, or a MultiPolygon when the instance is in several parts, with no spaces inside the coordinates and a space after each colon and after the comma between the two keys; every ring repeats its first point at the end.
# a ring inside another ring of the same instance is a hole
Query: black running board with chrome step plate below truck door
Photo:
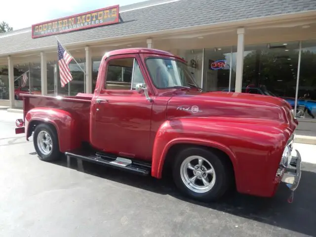
{"type": "Polygon", "coordinates": [[[100,152],[88,152],[82,150],[69,151],[65,155],[67,158],[77,158],[80,160],[90,161],[93,163],[126,170],[143,176],[150,175],[151,164],[139,160],[131,160],[128,158],[116,157],[112,154],[100,152]]]}

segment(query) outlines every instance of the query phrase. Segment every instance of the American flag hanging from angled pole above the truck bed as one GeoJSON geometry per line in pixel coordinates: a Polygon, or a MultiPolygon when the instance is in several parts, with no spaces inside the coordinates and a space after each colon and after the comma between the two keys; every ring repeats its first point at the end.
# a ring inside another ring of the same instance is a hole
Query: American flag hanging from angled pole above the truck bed
{"type": "Polygon", "coordinates": [[[69,63],[73,57],[63,48],[60,42],[58,43],[58,66],[61,86],[64,87],[68,82],[70,82],[73,77],[70,73],[69,63]]]}

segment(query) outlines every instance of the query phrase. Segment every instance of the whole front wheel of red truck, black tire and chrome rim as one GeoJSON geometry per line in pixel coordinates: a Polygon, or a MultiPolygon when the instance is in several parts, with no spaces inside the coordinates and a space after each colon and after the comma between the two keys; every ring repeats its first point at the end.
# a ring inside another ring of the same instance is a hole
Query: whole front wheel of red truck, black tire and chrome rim
{"type": "Polygon", "coordinates": [[[181,151],[173,167],[173,179],[185,195],[199,201],[222,197],[231,184],[231,170],[224,157],[204,148],[181,151]]]}

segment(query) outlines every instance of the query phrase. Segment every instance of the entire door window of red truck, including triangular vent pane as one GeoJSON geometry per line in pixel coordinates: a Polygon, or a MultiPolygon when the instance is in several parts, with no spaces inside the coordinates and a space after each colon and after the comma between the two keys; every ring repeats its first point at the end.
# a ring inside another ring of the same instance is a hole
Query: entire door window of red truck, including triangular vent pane
{"type": "Polygon", "coordinates": [[[136,84],[145,83],[135,58],[112,59],[108,65],[105,85],[108,90],[131,90],[136,84]]]}

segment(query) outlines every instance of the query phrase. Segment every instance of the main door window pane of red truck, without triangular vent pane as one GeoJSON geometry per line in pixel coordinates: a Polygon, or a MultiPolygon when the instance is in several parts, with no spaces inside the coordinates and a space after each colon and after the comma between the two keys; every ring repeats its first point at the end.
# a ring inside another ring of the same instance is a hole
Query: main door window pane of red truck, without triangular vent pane
{"type": "Polygon", "coordinates": [[[108,90],[130,90],[134,58],[109,61],[105,88],[108,90]]]}

